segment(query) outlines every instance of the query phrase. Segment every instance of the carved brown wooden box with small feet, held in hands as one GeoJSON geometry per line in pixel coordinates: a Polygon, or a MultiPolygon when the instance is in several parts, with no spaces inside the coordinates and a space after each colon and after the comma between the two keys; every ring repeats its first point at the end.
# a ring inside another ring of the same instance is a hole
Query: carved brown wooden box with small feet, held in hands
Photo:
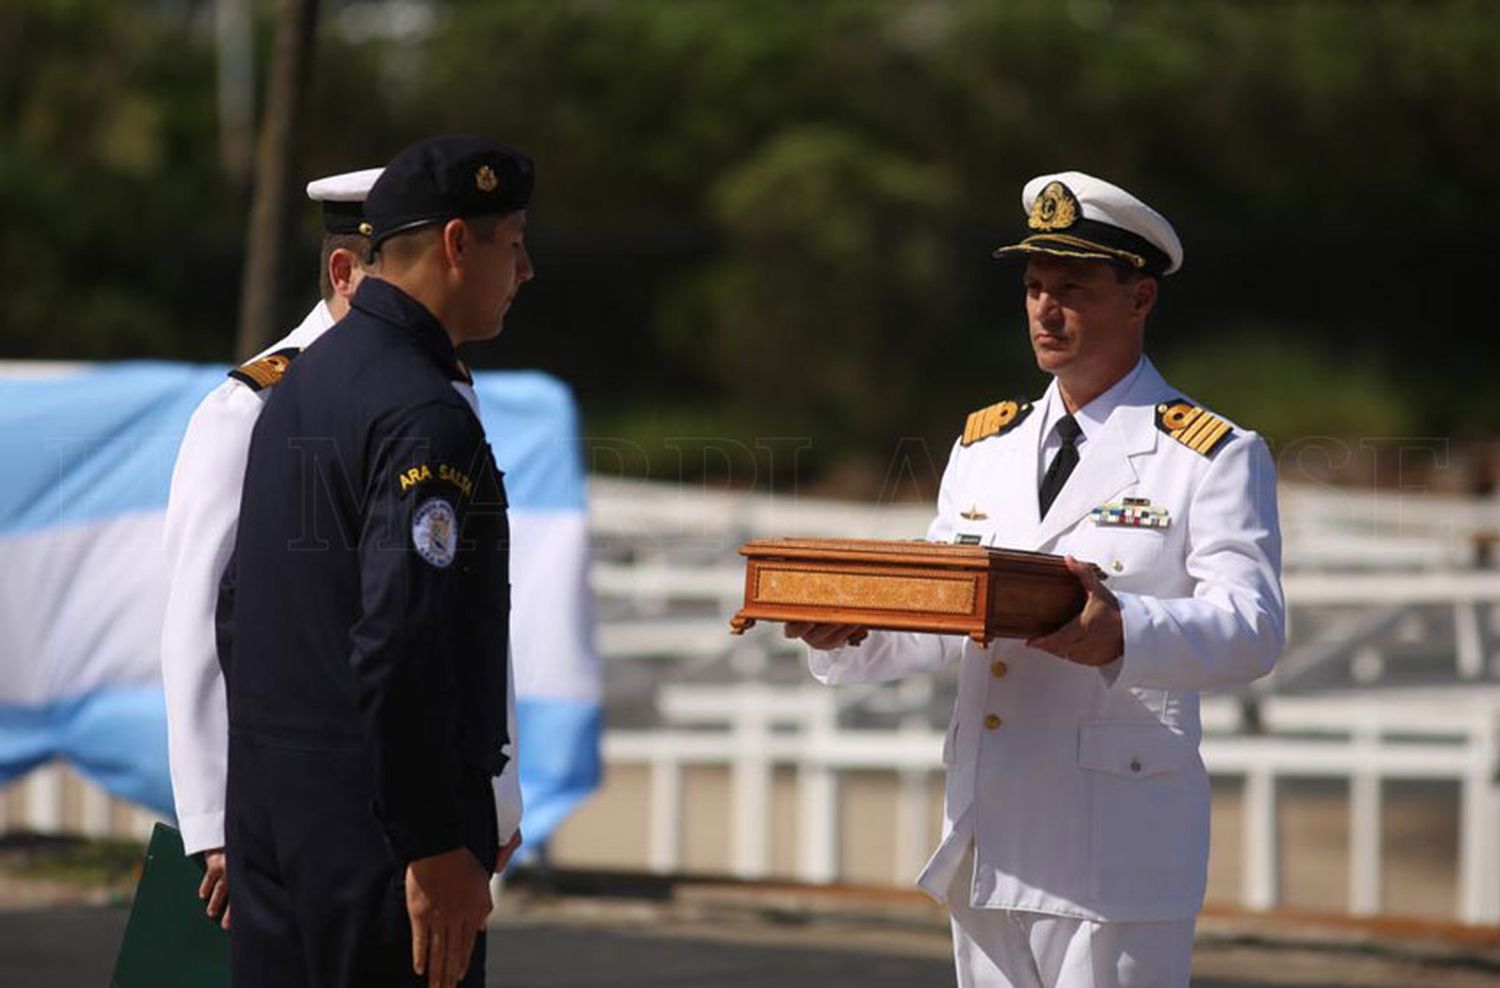
{"type": "Polygon", "coordinates": [[[760,538],[746,556],[744,607],[729,622],[813,621],[866,628],[1028,639],[1083,609],[1062,556],[986,546],[846,538],[760,538]]]}

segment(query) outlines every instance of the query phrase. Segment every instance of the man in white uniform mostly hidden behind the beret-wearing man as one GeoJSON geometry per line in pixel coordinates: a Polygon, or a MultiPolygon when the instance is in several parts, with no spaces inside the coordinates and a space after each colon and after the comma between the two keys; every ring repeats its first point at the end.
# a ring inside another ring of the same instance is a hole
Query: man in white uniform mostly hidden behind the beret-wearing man
{"type": "MultiPolygon", "coordinates": [[[[194,411],[177,451],[166,504],[164,541],[171,588],[162,628],[162,682],[166,693],[166,741],[172,798],[183,849],[204,856],[200,898],[230,927],[230,886],[225,865],[224,799],[228,781],[228,708],[219,667],[214,610],[240,517],[240,490],[250,430],[267,390],[290,363],[350,310],[350,297],[366,274],[369,223],[364,195],[381,175],[368,168],[328,175],[308,184],[308,198],[322,205],[320,250],[322,300],[302,324],[249,363],[230,372],[194,411]]],[[[453,385],[478,414],[478,397],[465,382],[453,385]]],[[[249,661],[249,658],[248,658],[249,661]]],[[[514,684],[510,688],[512,708],[514,684]]],[[[495,780],[495,816],[504,870],[520,844],[520,781],[514,760],[514,709],[510,711],[512,756],[495,780]],[[508,840],[507,840],[508,835],[508,840]]]]}

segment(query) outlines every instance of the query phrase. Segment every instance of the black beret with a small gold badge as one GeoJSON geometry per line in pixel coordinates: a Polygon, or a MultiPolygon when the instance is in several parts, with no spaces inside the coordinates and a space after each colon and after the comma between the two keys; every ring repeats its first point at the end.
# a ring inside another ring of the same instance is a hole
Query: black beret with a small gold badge
{"type": "Polygon", "coordinates": [[[386,165],[364,199],[370,246],[394,234],[468,216],[500,216],[531,202],[531,159],[471,136],[417,141],[386,165]]]}

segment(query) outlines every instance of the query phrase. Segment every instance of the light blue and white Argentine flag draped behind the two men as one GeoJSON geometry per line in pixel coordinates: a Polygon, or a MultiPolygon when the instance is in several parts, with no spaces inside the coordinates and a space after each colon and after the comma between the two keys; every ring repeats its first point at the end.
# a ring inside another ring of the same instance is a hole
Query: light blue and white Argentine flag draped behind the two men
{"type": "MultiPolygon", "coordinates": [[[[194,408],[225,369],[0,370],[0,786],[52,757],[172,814],[162,517],[194,408]]],[[[600,778],[578,412],[531,372],[474,378],[506,471],[522,829],[537,846],[600,778]]]]}

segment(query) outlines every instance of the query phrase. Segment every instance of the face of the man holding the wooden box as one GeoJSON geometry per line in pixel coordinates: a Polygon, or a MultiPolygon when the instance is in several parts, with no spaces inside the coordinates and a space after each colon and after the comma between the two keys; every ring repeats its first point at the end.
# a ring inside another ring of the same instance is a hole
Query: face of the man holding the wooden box
{"type": "MultiPolygon", "coordinates": [[[[1144,279],[1150,282],[1150,279],[1144,279]]],[[[1142,304],[1143,280],[1120,283],[1114,268],[1101,261],[1072,261],[1036,255],[1026,262],[1026,322],[1036,364],[1053,375],[1088,372],[1116,364],[1134,366],[1140,357],[1144,315],[1155,298],[1142,304]]]]}

